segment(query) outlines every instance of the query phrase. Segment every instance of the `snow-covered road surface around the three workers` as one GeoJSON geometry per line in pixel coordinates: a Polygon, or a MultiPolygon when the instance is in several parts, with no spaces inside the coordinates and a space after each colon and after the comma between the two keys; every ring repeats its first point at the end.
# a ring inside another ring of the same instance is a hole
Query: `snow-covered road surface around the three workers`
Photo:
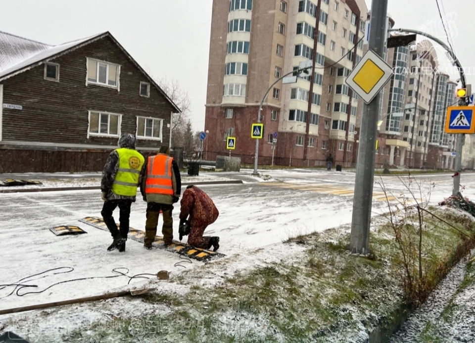
{"type": "MultiPolygon", "coordinates": [[[[200,175],[205,175],[201,173],[200,175]]],[[[218,173],[214,174],[217,175],[218,173]]],[[[220,252],[227,255],[225,261],[229,272],[251,268],[261,261],[282,257],[280,243],[289,238],[311,232],[323,232],[351,222],[354,190],[354,173],[334,171],[289,171],[265,170],[267,181],[254,178],[249,173],[219,173],[221,178],[240,179],[244,184],[202,186],[215,201],[220,217],[206,231],[207,235],[220,236],[220,252]],[[252,253],[259,250],[260,257],[255,260],[252,253]],[[249,256],[249,257],[247,257],[249,256]]],[[[212,173],[210,173],[212,175],[212,173]]],[[[200,178],[200,181],[203,179],[200,178]]],[[[184,178],[185,179],[185,178],[184,178]]],[[[421,175],[417,180],[433,183],[435,189],[431,200],[441,201],[451,194],[453,179],[450,175],[421,175]]],[[[379,177],[375,178],[380,180],[379,177]]],[[[384,184],[395,195],[406,192],[398,177],[384,176],[384,184]]],[[[46,181],[46,180],[45,180],[46,181]]],[[[184,180],[185,181],[185,180],[184,180]]],[[[195,181],[192,181],[195,182],[195,181]]],[[[475,174],[464,174],[462,184],[467,186],[465,196],[475,196],[475,174]]],[[[375,186],[374,192],[380,192],[375,186]]],[[[406,192],[407,195],[407,192],[406,192]]],[[[380,195],[379,195],[380,196],[380,195]]],[[[100,216],[102,201],[98,191],[66,191],[47,193],[16,193],[0,195],[0,284],[11,284],[30,275],[52,268],[62,268],[22,281],[23,284],[37,285],[37,288],[23,288],[18,294],[10,293],[14,287],[0,287],[0,310],[59,301],[76,297],[103,294],[127,287],[129,278],[113,272],[114,268],[128,268],[128,275],[139,273],[155,274],[168,270],[178,276],[189,269],[201,267],[202,262],[182,263],[178,254],[163,250],[145,250],[140,243],[129,240],[127,251],[107,252],[111,243],[110,234],[78,222],[86,216],[100,216]],[[87,231],[79,236],[56,237],[50,227],[59,225],[78,225],[87,231]],[[68,269],[69,268],[69,269],[68,269]],[[70,268],[74,268],[71,270],[70,268]],[[66,272],[69,271],[69,272],[66,272]],[[54,274],[56,272],[56,274],[54,274]],[[57,273],[63,272],[63,273],[57,273]],[[114,277],[112,277],[114,276],[114,277]],[[108,278],[105,278],[108,277],[108,278]],[[92,278],[53,286],[54,283],[78,278],[92,278]],[[25,294],[27,292],[45,292],[25,294]]],[[[143,230],[145,224],[145,203],[133,204],[131,227],[143,230]]],[[[386,205],[381,198],[375,198],[373,213],[384,212],[386,205]]],[[[174,220],[178,222],[179,203],[175,207],[174,220]]],[[[118,214],[116,215],[118,217],[118,214]]],[[[117,218],[116,217],[116,218],[117,218]]],[[[118,218],[117,218],[118,219],[118,218]]],[[[159,222],[159,227],[161,220],[159,222]]],[[[178,225],[175,235],[178,236],[178,225]]],[[[186,238],[185,238],[186,241],[186,238]]],[[[286,251],[286,253],[291,253],[286,251]]],[[[222,263],[219,260],[212,264],[222,263]]],[[[124,271],[121,269],[120,271],[124,271]]],[[[204,280],[205,283],[219,282],[219,276],[204,280]]],[[[143,285],[146,281],[134,279],[131,285],[143,285]]],[[[173,282],[158,284],[163,292],[186,292],[173,282]]],[[[156,285],[155,285],[156,287],[156,285]]],[[[115,299],[107,302],[107,308],[122,303],[124,311],[137,313],[134,302],[115,299]],[[124,302],[128,305],[125,306],[124,302]],[[125,307],[124,307],[125,306],[125,307]]],[[[72,311],[80,315],[78,324],[95,320],[103,315],[94,306],[73,306],[72,311]]],[[[144,311],[150,309],[143,309],[144,311]]],[[[66,310],[59,310],[59,313],[66,310]]],[[[142,309],[140,310],[142,311],[142,309]]],[[[38,323],[44,332],[71,329],[74,325],[59,319],[48,320],[41,311],[17,315],[0,316],[2,327],[14,329],[16,333],[34,332],[38,323]]],[[[58,312],[55,312],[58,313],[58,312]]],[[[120,314],[120,313],[119,313],[120,314]]],[[[6,329],[5,329],[6,330],[6,329]]]]}

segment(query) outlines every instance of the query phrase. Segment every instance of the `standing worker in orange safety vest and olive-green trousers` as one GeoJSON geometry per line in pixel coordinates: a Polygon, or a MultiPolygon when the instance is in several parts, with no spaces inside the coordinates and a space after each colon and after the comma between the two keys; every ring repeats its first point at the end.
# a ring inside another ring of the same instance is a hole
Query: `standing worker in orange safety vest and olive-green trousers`
{"type": "Polygon", "coordinates": [[[163,243],[173,241],[173,204],[182,192],[180,169],[169,147],[160,147],[158,154],[150,156],[142,166],[140,191],[147,202],[145,238],[143,246],[152,248],[157,234],[158,216],[163,215],[163,243]]]}

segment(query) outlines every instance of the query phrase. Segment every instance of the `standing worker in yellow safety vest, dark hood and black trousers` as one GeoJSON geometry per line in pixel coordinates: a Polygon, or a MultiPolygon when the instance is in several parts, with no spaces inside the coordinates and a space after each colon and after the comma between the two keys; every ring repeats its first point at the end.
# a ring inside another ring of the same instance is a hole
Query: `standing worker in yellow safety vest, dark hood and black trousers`
{"type": "Polygon", "coordinates": [[[145,162],[142,154],[135,149],[137,139],[131,134],[119,138],[118,149],[109,154],[102,172],[100,191],[104,205],[100,212],[113,242],[108,251],[125,251],[125,242],[129,234],[129,217],[132,202],[137,196],[140,171],[145,162]],[[119,207],[120,229],[117,229],[112,212],[119,207]]]}

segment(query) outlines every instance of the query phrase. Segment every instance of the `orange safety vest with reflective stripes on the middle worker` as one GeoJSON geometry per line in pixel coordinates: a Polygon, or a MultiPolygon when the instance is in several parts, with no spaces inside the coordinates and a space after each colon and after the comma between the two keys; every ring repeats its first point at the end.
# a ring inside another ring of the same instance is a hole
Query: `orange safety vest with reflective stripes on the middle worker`
{"type": "Polygon", "coordinates": [[[148,157],[145,194],[164,194],[173,196],[173,157],[159,153],[148,157]]]}

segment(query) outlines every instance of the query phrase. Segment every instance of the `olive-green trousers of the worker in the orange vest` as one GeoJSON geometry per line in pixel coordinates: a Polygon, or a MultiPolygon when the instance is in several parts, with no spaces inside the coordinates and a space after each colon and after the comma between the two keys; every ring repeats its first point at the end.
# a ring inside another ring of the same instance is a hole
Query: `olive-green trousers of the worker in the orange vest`
{"type": "Polygon", "coordinates": [[[170,244],[173,241],[173,205],[149,202],[147,203],[147,220],[145,222],[145,239],[143,241],[144,245],[152,244],[155,241],[160,210],[162,210],[163,214],[163,241],[165,244],[170,244]]]}

